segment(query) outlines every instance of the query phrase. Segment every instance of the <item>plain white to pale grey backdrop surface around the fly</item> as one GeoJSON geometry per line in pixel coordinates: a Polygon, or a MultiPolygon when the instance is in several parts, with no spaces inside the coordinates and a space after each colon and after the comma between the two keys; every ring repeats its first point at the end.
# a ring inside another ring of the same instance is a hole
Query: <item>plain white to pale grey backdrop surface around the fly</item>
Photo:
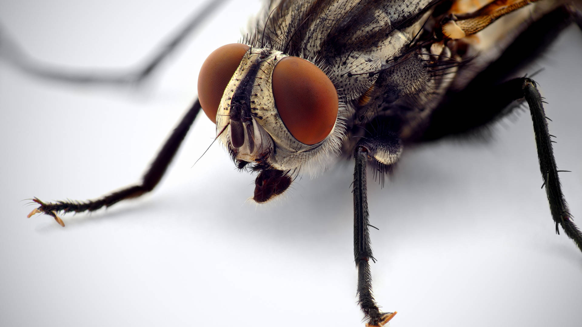
{"type": "MultiPolygon", "coordinates": [[[[197,1],[0,2],[27,52],[65,67],[129,67],[197,1]]],[[[254,205],[200,116],[159,187],[66,228],[22,201],[98,197],[132,184],[196,96],[215,48],[259,5],[230,1],[140,90],[26,76],[0,62],[1,326],[363,326],[352,251],[353,164],[254,205]]],[[[563,190],[582,225],[582,33],[530,67],[553,119],[563,190]]],[[[493,96],[493,95],[488,95],[493,96]]],[[[470,110],[470,104],[467,104],[470,110]]],[[[582,254],[557,236],[527,112],[489,144],[407,149],[369,181],[374,292],[392,326],[579,326],[582,254]]]]}

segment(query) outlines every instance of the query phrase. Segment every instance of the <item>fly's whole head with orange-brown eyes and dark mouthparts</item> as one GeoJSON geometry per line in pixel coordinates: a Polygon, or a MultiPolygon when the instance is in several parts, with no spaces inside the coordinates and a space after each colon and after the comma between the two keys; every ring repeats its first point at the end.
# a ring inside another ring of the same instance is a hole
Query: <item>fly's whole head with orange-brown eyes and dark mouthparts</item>
{"type": "Polygon", "coordinates": [[[288,189],[290,175],[325,169],[339,154],[343,104],[322,68],[282,51],[228,44],[200,70],[200,104],[237,168],[259,172],[259,203],[288,189]]]}

